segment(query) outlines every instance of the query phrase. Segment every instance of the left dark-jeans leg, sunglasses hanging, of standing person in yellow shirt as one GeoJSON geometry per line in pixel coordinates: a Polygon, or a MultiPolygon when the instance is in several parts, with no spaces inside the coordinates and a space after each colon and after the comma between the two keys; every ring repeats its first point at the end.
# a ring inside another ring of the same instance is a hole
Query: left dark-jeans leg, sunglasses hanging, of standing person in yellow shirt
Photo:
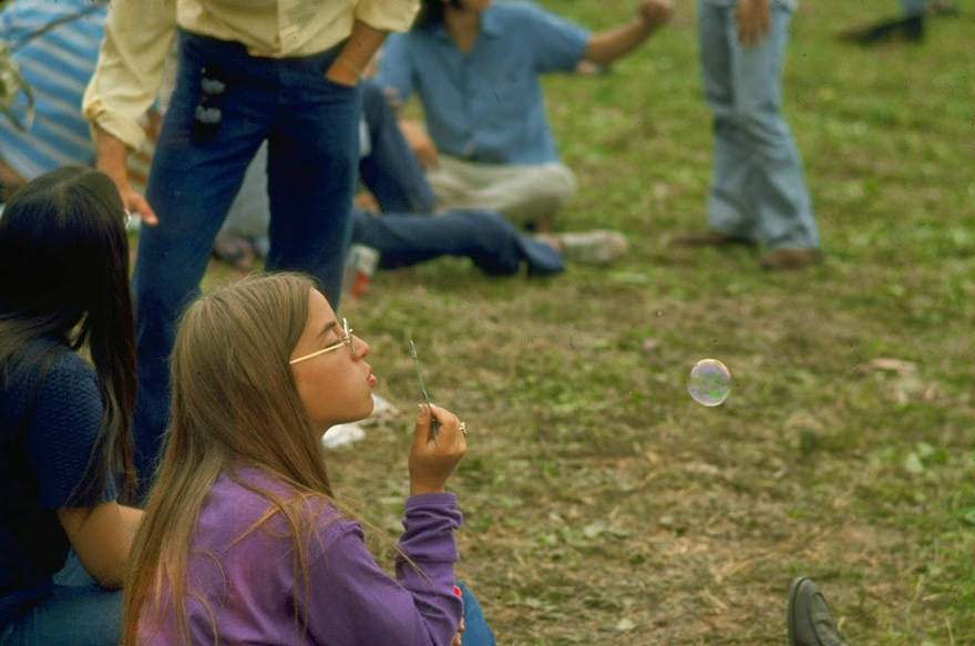
{"type": "Polygon", "coordinates": [[[268,79],[259,79],[261,70],[248,65],[243,48],[237,52],[235,47],[179,34],[176,89],[146,188],[160,223],[141,228],[133,275],[138,365],[133,423],[140,478],[136,501],[147,492],[168,422],[168,358],[177,318],[197,293],[214,238],[264,139],[263,124],[273,107],[268,79]],[[223,92],[203,96],[204,68],[209,76],[223,78],[223,92]],[[220,122],[205,142],[194,121],[195,109],[204,100],[220,111],[220,122]]]}

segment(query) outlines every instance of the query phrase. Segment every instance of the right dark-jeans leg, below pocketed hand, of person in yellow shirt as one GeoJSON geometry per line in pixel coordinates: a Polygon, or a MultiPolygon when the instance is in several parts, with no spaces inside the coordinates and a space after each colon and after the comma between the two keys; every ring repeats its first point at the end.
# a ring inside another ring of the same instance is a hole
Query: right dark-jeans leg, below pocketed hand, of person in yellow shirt
{"type": "Polygon", "coordinates": [[[337,52],[281,63],[268,136],[268,269],[316,277],[338,309],[359,162],[358,86],[325,78],[337,52]]]}

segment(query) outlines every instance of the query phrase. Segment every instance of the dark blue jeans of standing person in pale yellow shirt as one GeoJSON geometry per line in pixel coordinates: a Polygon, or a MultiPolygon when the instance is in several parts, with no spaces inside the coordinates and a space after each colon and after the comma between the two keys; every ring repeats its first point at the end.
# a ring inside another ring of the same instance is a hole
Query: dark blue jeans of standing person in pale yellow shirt
{"type": "Polygon", "coordinates": [[[146,198],[160,224],[142,227],[133,276],[138,400],[134,416],[140,494],[168,421],[167,361],[176,320],[198,294],[214,238],[258,146],[268,142],[269,269],[317,278],[338,307],[359,157],[358,88],[325,78],[337,49],[295,59],[250,57],[244,45],[179,32],[176,88],[166,111],[146,198]],[[203,71],[222,93],[205,95],[203,71]],[[209,141],[197,106],[217,107],[209,141]],[[197,123],[197,126],[199,124],[197,123]]]}

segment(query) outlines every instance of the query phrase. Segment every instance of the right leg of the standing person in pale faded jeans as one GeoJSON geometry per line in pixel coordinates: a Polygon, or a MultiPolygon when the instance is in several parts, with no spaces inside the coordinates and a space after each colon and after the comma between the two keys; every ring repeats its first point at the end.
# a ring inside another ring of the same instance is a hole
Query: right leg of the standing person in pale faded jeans
{"type": "Polygon", "coordinates": [[[743,48],[729,21],[735,119],[746,146],[748,181],[742,187],[770,248],[814,249],[819,232],[802,176],[799,150],[782,117],[782,64],[792,12],[773,3],[770,30],[757,45],[743,48]]]}

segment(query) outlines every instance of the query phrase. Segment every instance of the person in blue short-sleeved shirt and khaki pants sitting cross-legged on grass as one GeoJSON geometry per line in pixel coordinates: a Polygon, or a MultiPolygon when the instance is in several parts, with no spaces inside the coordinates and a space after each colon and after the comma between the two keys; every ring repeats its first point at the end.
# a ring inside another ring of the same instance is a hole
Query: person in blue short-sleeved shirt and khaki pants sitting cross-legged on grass
{"type": "Polygon", "coordinates": [[[670,10],[670,0],[642,0],[632,20],[591,34],[530,2],[423,0],[410,32],[387,40],[378,81],[394,102],[420,99],[439,152],[428,172],[438,207],[497,211],[547,229],[576,184],[560,162],[540,75],[606,65],[670,10]]]}

